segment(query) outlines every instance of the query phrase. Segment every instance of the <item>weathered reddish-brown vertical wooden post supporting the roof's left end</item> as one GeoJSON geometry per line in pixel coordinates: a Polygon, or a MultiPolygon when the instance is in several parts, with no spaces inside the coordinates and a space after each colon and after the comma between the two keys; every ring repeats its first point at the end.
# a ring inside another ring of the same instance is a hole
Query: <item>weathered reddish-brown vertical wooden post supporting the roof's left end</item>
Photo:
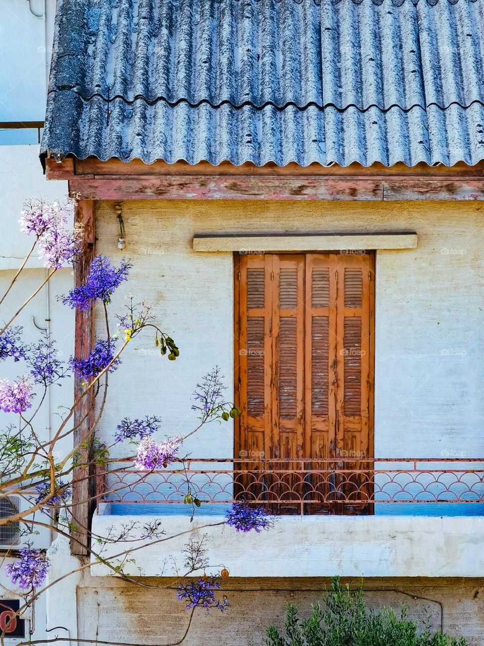
{"type": "MultiPolygon", "coordinates": [[[[74,267],[75,284],[85,282],[89,267],[94,257],[94,201],[77,200],[75,222],[83,229],[82,247],[79,258],[74,267]]],[[[93,317],[92,307],[79,311],[76,309],[76,329],[74,339],[74,355],[85,358],[93,345],[93,317]]],[[[74,397],[77,399],[83,392],[82,379],[74,379],[74,397]]],[[[88,439],[93,422],[94,398],[92,391],[86,395],[76,407],[74,412],[74,446],[79,446],[88,439]]],[[[76,556],[86,556],[89,552],[89,526],[90,510],[92,504],[92,468],[90,468],[90,451],[88,446],[79,450],[79,466],[74,468],[72,485],[72,540],[70,549],[76,556]]]]}

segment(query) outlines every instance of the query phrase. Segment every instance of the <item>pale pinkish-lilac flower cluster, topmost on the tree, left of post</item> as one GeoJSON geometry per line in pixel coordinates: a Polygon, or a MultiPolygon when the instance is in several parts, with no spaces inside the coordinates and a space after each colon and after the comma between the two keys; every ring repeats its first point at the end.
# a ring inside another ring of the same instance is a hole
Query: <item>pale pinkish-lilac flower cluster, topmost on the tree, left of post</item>
{"type": "Polygon", "coordinates": [[[61,269],[71,263],[79,251],[79,230],[69,228],[73,203],[30,200],[25,203],[19,220],[21,231],[34,233],[38,240],[39,256],[45,266],[61,269]]]}

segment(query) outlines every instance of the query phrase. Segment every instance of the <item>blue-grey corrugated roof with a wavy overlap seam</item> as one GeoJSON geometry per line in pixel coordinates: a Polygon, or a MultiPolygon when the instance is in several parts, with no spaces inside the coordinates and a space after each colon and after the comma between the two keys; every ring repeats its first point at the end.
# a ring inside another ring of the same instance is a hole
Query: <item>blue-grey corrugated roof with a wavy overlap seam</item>
{"type": "Polygon", "coordinates": [[[484,159],[484,0],[60,0],[43,151],[484,159]]]}

